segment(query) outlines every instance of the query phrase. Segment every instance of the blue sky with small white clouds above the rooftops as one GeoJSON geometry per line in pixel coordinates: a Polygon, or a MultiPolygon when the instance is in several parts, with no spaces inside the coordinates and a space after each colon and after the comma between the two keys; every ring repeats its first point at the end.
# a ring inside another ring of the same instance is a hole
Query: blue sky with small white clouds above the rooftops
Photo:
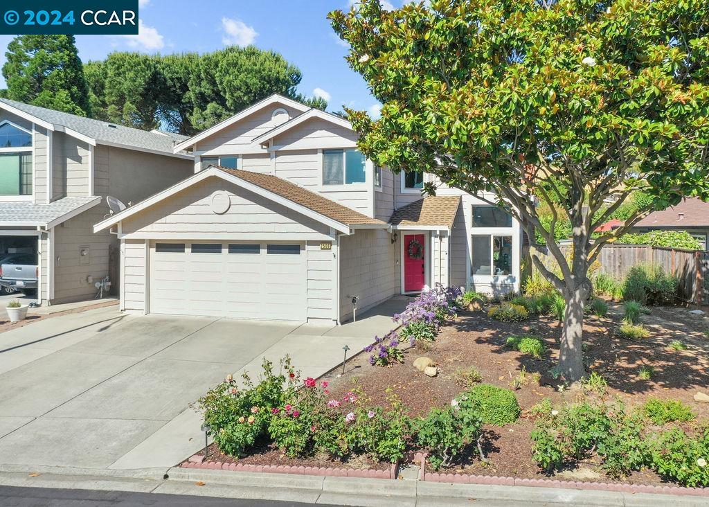
{"type": "MultiPolygon", "coordinates": [[[[139,0],[139,35],[77,35],[84,62],[115,50],[146,53],[209,52],[228,43],[272,49],[303,72],[299,91],[328,100],[329,111],[342,105],[375,112],[367,85],[347,66],[347,47],[325,18],[348,9],[352,0],[139,0]]],[[[403,0],[382,1],[385,8],[403,0]]],[[[0,65],[10,35],[0,35],[0,65]]],[[[0,77],[0,82],[2,81],[0,77]]],[[[4,82],[0,83],[4,86],[4,82]]]]}

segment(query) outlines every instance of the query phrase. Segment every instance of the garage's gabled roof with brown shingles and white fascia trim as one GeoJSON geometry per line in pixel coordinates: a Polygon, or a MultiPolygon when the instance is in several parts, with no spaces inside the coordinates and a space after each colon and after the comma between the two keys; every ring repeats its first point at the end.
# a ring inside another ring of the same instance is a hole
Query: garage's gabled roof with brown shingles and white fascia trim
{"type": "Polygon", "coordinates": [[[255,194],[262,195],[271,201],[291,208],[320,223],[325,223],[343,233],[349,233],[350,228],[388,227],[388,224],[381,220],[370,218],[358,211],[347,208],[347,206],[342,206],[342,204],[336,203],[335,201],[330,201],[330,199],[320,194],[303,189],[303,187],[288,182],[283,178],[271,174],[259,174],[257,172],[243,171],[240,169],[210,166],[194,174],[194,176],[184,179],[177,185],[97,223],[94,225],[94,233],[109,228],[125,220],[125,218],[139,211],[143,211],[145,208],[153,206],[164,199],[168,199],[170,196],[177,194],[177,192],[187,189],[189,186],[201,182],[208,177],[220,177],[225,179],[225,181],[252,191],[255,194]]]}

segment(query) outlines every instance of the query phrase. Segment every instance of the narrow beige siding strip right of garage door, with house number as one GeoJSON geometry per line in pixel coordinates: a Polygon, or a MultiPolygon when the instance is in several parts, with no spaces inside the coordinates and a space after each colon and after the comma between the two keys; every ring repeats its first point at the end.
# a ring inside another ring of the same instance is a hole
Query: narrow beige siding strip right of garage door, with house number
{"type": "Polygon", "coordinates": [[[320,242],[306,243],[308,279],[308,319],[335,319],[335,273],[337,261],[332,250],[320,250],[320,242]]]}

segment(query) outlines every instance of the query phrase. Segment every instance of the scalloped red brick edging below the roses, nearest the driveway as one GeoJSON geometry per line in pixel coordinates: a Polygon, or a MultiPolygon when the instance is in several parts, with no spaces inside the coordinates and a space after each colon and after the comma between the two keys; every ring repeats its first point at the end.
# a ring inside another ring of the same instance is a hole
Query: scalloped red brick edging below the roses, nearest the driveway
{"type": "Polygon", "coordinates": [[[317,475],[321,477],[364,477],[369,479],[396,479],[398,475],[398,462],[392,463],[388,470],[356,470],[329,467],[291,467],[284,464],[245,464],[204,462],[201,456],[193,456],[182,463],[182,468],[196,468],[208,470],[231,470],[233,472],[256,472],[263,474],[295,474],[317,475]]]}

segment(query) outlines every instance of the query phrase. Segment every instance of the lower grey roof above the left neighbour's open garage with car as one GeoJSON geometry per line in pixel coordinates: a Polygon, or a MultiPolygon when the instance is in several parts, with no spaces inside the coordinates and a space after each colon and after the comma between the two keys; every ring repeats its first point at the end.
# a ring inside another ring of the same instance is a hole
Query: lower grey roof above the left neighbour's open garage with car
{"type": "Polygon", "coordinates": [[[50,204],[0,203],[0,225],[52,228],[101,202],[100,196],[64,197],[50,204]]]}

